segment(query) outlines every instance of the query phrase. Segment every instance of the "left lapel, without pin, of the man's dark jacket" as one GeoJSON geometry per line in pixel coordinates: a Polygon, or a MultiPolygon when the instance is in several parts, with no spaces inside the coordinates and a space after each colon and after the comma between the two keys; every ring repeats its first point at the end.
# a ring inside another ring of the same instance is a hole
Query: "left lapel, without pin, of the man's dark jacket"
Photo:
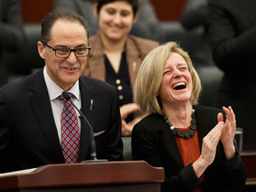
{"type": "Polygon", "coordinates": [[[65,160],[62,155],[57,128],[52,116],[52,107],[46,84],[44,83],[43,69],[37,72],[32,78],[29,89],[35,92],[35,94],[29,98],[29,102],[34,110],[38,124],[44,133],[45,140],[47,140],[52,149],[52,154],[57,159],[57,162],[64,164],[65,160]]]}

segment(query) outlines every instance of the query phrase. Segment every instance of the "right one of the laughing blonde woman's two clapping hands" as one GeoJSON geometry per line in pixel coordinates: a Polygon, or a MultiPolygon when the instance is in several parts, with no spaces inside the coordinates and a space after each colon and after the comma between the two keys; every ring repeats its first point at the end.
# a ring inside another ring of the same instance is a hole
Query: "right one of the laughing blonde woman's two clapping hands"
{"type": "MultiPolygon", "coordinates": [[[[224,124],[224,129],[221,133],[220,140],[223,144],[225,155],[227,160],[235,156],[235,146],[234,138],[236,132],[236,116],[233,109],[229,106],[228,108],[223,107],[226,113],[226,122],[224,124]]],[[[218,122],[223,121],[223,115],[218,114],[218,122]]]]}

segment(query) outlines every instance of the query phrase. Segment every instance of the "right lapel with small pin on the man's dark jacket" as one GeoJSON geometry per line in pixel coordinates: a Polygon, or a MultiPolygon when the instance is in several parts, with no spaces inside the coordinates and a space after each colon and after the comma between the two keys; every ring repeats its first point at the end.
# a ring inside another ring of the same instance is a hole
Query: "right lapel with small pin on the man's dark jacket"
{"type": "MultiPolygon", "coordinates": [[[[92,126],[92,131],[95,123],[95,116],[97,111],[98,100],[92,95],[92,85],[85,79],[80,78],[80,92],[82,98],[82,111],[92,126]]],[[[78,156],[78,162],[85,159],[90,147],[90,132],[91,129],[84,119],[81,120],[81,135],[80,135],[80,151],[78,156]]]]}

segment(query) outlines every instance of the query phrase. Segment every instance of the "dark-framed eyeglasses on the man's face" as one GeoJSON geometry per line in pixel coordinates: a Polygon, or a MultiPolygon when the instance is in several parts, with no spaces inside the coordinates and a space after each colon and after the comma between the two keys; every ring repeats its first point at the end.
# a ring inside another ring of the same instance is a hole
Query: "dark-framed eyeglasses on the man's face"
{"type": "Polygon", "coordinates": [[[68,49],[68,48],[53,48],[48,44],[45,44],[47,47],[52,49],[55,52],[55,56],[59,58],[68,58],[71,52],[74,52],[76,57],[86,57],[89,55],[91,50],[91,44],[88,43],[89,47],[82,47],[76,49],[68,49]]]}

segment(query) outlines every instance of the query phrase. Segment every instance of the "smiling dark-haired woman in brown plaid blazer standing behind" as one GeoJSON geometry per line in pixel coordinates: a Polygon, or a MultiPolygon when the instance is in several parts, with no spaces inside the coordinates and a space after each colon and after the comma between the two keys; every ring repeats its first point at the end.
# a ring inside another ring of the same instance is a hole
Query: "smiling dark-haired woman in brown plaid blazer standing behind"
{"type": "Polygon", "coordinates": [[[138,9],[138,0],[99,0],[94,4],[100,31],[89,39],[92,50],[84,70],[85,76],[107,81],[116,87],[123,135],[131,135],[133,125],[141,119],[141,116],[132,116],[132,112],[140,109],[132,103],[132,89],[142,60],[159,45],[129,35],[138,18],[138,9]]]}

